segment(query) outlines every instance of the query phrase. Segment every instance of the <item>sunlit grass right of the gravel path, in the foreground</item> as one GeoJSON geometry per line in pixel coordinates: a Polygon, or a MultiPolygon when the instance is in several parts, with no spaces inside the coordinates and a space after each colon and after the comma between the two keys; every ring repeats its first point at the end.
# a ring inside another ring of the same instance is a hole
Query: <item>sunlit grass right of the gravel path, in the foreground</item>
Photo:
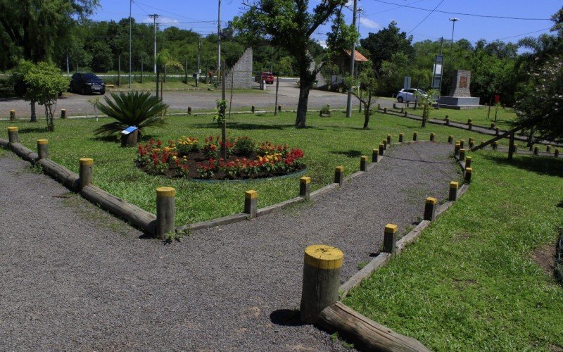
{"type": "Polygon", "coordinates": [[[531,253],[563,226],[563,161],[473,165],[467,194],[344,303],[433,350],[561,351],[563,289],[531,253]]]}

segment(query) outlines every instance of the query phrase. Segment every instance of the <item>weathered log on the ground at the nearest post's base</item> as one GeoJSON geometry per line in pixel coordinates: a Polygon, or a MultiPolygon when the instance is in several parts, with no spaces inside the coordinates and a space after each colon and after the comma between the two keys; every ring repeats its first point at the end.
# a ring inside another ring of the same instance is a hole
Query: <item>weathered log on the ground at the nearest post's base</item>
{"type": "Polygon", "coordinates": [[[341,302],[324,308],[317,324],[353,342],[360,351],[430,351],[417,339],[394,332],[341,302]]]}

